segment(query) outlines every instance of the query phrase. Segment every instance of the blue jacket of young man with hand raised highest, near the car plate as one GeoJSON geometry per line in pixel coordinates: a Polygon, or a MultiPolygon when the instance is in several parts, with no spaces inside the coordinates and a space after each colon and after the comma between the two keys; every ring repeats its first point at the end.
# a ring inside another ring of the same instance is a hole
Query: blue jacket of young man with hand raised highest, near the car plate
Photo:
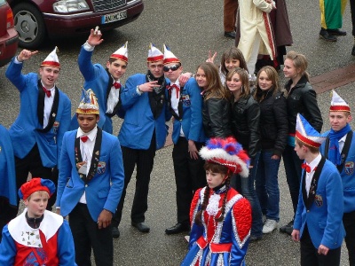
{"type": "MultiPolygon", "coordinates": [[[[83,83],[83,88],[85,90],[93,90],[99,103],[99,114],[100,119],[98,126],[100,129],[112,134],[113,126],[112,119],[106,115],[107,110],[107,88],[109,82],[109,76],[106,69],[100,64],[93,65],[91,62],[91,56],[93,51],[86,51],[82,49],[79,53],[78,64],[80,72],[83,74],[85,82],[83,83]]],[[[121,90],[124,86],[121,84],[121,90]]],[[[83,93],[82,93],[83,98],[83,93]]],[[[121,100],[121,99],[120,99],[121,100]]],[[[70,130],[75,130],[79,128],[79,124],[76,119],[76,113],[74,114],[72,121],[70,123],[70,130]]]]}

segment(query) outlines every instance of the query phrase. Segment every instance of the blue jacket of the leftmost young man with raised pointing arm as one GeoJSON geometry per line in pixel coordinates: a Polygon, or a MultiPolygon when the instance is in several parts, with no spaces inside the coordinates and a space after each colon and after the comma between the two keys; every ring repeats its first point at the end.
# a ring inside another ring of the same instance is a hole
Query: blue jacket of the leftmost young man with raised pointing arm
{"type": "Polygon", "coordinates": [[[46,133],[38,131],[43,129],[37,115],[39,76],[21,74],[22,65],[12,59],[6,70],[6,77],[20,91],[20,113],[9,129],[13,152],[22,159],[37,144],[43,166],[53,168],[58,165],[62,139],[69,129],[71,103],[67,95],[58,90],[59,106],[53,127],[46,133]]]}

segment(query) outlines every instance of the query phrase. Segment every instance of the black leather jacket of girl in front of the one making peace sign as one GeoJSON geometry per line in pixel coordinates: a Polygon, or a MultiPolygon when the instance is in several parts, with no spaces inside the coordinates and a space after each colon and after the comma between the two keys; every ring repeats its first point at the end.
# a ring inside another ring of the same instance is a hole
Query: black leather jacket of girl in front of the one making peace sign
{"type": "Polygon", "coordinates": [[[236,102],[232,99],[233,135],[243,149],[248,151],[251,160],[261,149],[259,119],[260,106],[251,95],[239,98],[236,102]]]}

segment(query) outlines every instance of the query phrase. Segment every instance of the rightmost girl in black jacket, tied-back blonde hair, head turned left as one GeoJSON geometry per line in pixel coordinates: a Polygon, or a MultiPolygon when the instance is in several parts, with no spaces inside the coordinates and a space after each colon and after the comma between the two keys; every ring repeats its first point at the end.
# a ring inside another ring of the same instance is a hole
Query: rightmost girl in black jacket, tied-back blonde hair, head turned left
{"type": "MultiPolygon", "coordinates": [[[[319,132],[323,125],[316,92],[313,90],[306,72],[307,66],[308,62],[303,54],[296,51],[288,51],[283,68],[285,77],[289,78],[289,81],[285,85],[285,89],[288,91],[288,145],[286,145],[282,154],[282,159],[294,213],[296,213],[298,203],[298,192],[302,174],[301,165],[303,163],[303,160],[298,158],[294,150],[297,113],[301,113],[310,122],[312,127],[319,132]]],[[[286,232],[289,235],[292,233],[292,230],[293,220],[288,225],[280,227],[281,232],[286,232]]]]}

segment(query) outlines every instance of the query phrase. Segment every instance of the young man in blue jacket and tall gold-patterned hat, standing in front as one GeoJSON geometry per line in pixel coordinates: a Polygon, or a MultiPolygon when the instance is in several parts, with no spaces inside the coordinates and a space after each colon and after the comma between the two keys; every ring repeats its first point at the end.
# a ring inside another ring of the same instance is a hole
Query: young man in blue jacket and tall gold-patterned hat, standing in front
{"type": "Polygon", "coordinates": [[[75,262],[113,265],[111,219],[121,198],[124,172],[117,137],[99,129],[99,106],[92,90],[76,109],[79,129],[64,135],[56,207],[69,215],[75,262]]]}

